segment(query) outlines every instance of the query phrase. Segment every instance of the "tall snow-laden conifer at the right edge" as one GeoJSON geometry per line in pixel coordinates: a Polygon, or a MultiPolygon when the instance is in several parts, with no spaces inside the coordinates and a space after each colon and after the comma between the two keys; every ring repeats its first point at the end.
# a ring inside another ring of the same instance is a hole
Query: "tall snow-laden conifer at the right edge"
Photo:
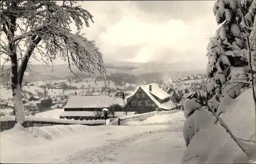
{"type": "Polygon", "coordinates": [[[238,90],[245,87],[246,81],[249,80],[249,49],[255,53],[255,47],[252,48],[250,45],[255,44],[253,24],[255,25],[256,19],[256,2],[219,0],[215,3],[213,12],[217,23],[221,26],[207,46],[207,89],[209,92],[225,93],[235,98],[240,94],[238,90]],[[248,36],[252,36],[249,43],[247,43],[248,36]],[[232,71],[232,69],[237,69],[237,71],[232,71]],[[230,72],[234,73],[230,74],[230,72]],[[234,78],[240,80],[232,80],[234,78]],[[227,86],[230,83],[232,85],[227,86]],[[232,90],[233,88],[238,88],[238,90],[232,90]],[[238,93],[234,93],[237,91],[238,93]]]}

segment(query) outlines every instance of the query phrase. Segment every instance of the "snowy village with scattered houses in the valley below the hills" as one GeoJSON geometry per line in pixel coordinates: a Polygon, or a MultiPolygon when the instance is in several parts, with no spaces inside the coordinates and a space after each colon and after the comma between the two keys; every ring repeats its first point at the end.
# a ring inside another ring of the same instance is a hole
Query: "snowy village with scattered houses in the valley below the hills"
{"type": "MultiPolygon", "coordinates": [[[[204,103],[207,81],[205,76],[188,75],[152,84],[117,86],[112,83],[94,78],[25,82],[22,91],[25,115],[63,108],[59,118],[93,120],[103,119],[103,108],[108,108],[110,118],[182,109],[180,101],[184,98],[201,96],[204,103]]],[[[8,85],[2,86],[3,89],[11,92],[8,85]]],[[[1,109],[11,109],[1,116],[15,115],[11,96],[1,97],[0,101],[1,109]]]]}

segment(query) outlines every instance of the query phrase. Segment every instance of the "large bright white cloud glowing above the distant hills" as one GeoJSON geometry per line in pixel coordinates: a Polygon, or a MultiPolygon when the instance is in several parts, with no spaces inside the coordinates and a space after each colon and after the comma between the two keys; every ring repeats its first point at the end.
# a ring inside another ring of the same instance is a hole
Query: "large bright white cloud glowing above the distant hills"
{"type": "MultiPolygon", "coordinates": [[[[196,62],[195,60],[200,56],[205,58],[208,44],[206,38],[210,27],[207,21],[203,20],[207,19],[207,17],[201,17],[190,22],[170,19],[162,23],[148,23],[132,15],[124,16],[100,34],[100,48],[105,56],[109,54],[114,56],[117,52],[120,54],[121,48],[122,54],[126,55],[118,57],[126,61],[149,62],[172,59],[169,62],[182,60],[196,62]],[[136,45],[142,45],[136,54],[127,53],[125,47],[128,49],[136,45]],[[166,51],[175,53],[166,55],[166,51]],[[195,56],[195,60],[190,55],[195,56]]],[[[212,24],[210,26],[211,29],[217,27],[212,24]]]]}

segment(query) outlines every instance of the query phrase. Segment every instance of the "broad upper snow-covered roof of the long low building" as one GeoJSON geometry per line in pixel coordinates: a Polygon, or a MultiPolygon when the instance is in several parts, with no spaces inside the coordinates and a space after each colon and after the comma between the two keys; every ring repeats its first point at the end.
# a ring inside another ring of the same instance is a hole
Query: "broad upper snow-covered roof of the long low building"
{"type": "Polygon", "coordinates": [[[123,106],[122,98],[110,96],[71,96],[64,108],[110,107],[113,104],[123,106]]]}

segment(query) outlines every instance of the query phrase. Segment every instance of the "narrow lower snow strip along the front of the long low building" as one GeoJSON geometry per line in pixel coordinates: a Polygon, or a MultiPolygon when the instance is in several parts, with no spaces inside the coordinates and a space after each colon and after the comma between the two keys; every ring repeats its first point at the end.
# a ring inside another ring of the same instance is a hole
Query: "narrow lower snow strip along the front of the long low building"
{"type": "MultiPolygon", "coordinates": [[[[134,115],[136,112],[127,112],[127,116],[134,115]]],[[[59,116],[61,117],[67,117],[67,116],[73,116],[73,117],[95,117],[95,112],[93,111],[65,111],[62,112],[59,116]]],[[[109,116],[112,117],[113,115],[109,113],[109,116]]],[[[115,112],[114,117],[122,117],[126,116],[124,112],[115,112]]],[[[103,114],[102,114],[103,117],[103,114]]]]}

